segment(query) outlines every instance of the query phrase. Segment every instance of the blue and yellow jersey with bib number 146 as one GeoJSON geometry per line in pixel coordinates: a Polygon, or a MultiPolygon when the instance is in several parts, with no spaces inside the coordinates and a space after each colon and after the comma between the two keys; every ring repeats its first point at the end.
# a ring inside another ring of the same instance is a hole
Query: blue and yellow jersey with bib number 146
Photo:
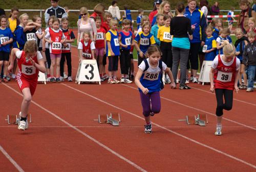
{"type": "Polygon", "coordinates": [[[144,35],[143,32],[140,32],[137,34],[134,40],[139,44],[140,50],[143,53],[146,53],[147,48],[150,47],[151,44],[156,43],[154,36],[151,33],[144,35]]]}

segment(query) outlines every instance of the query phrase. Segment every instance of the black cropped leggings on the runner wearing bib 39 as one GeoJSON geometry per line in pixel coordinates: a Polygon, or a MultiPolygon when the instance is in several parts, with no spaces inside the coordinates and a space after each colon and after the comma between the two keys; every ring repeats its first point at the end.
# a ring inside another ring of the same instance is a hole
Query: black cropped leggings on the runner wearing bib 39
{"type": "Polygon", "coordinates": [[[215,89],[216,99],[217,99],[217,108],[216,108],[216,115],[222,116],[223,109],[231,110],[233,104],[233,90],[227,89],[215,89]],[[225,103],[223,103],[223,95],[225,103]]]}

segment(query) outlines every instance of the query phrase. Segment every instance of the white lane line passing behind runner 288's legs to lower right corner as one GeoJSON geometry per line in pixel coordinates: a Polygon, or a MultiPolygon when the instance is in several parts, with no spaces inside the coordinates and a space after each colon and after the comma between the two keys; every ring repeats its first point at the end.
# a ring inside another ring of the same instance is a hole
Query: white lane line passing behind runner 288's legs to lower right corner
{"type": "MultiPolygon", "coordinates": [[[[104,104],[106,104],[106,105],[112,106],[112,107],[114,107],[114,108],[116,108],[116,109],[119,109],[119,110],[121,110],[121,111],[123,111],[123,112],[129,113],[129,114],[131,114],[131,115],[133,115],[133,116],[135,116],[135,117],[137,117],[137,118],[140,118],[140,119],[142,119],[142,120],[144,121],[144,118],[142,118],[141,116],[139,116],[139,115],[137,115],[137,114],[134,114],[134,113],[132,113],[132,112],[130,112],[130,111],[127,111],[127,110],[125,110],[125,109],[122,109],[122,108],[120,108],[120,107],[117,107],[117,106],[115,106],[115,105],[113,105],[113,104],[110,104],[110,103],[108,103],[108,102],[105,102],[105,101],[103,101],[103,100],[101,100],[101,99],[99,99],[99,98],[97,98],[97,97],[95,97],[95,96],[93,96],[93,95],[91,95],[91,94],[89,94],[89,93],[86,93],[86,92],[83,92],[83,91],[81,91],[81,90],[78,90],[78,89],[76,89],[76,88],[74,88],[74,87],[71,87],[71,86],[69,86],[69,85],[67,85],[67,84],[63,84],[63,83],[61,83],[61,84],[62,84],[62,85],[65,85],[66,87],[68,87],[68,88],[70,88],[70,89],[73,89],[73,90],[75,90],[75,91],[77,91],[77,92],[80,92],[80,93],[82,93],[82,94],[84,94],[84,95],[87,95],[87,96],[89,96],[89,97],[91,97],[91,98],[93,98],[93,99],[95,99],[95,100],[97,100],[97,101],[99,101],[99,102],[102,102],[102,103],[104,103],[104,104]]],[[[169,130],[169,129],[167,129],[167,128],[161,126],[161,125],[156,124],[155,122],[152,122],[152,124],[154,124],[155,126],[161,128],[161,129],[163,129],[163,130],[166,130],[166,131],[168,131],[168,132],[170,132],[170,133],[173,133],[173,134],[175,134],[175,135],[178,135],[178,136],[180,136],[180,137],[182,137],[182,138],[184,138],[184,139],[187,139],[187,140],[189,140],[189,141],[191,141],[191,142],[194,142],[194,143],[196,143],[196,144],[199,144],[199,145],[201,145],[201,146],[204,146],[205,148],[208,148],[208,149],[210,149],[210,150],[212,150],[212,151],[215,151],[215,152],[217,152],[217,153],[220,153],[220,154],[222,154],[222,155],[225,155],[225,156],[227,156],[227,157],[229,157],[229,158],[231,158],[231,159],[237,160],[237,161],[239,161],[239,162],[241,162],[241,163],[244,163],[244,164],[246,164],[246,165],[248,165],[248,166],[250,166],[250,167],[256,169],[256,165],[253,165],[253,164],[251,164],[251,163],[249,163],[249,162],[246,162],[246,161],[244,161],[244,160],[242,160],[242,159],[239,159],[239,158],[234,157],[234,156],[232,156],[232,155],[229,155],[229,154],[227,154],[227,153],[225,153],[225,152],[222,152],[222,151],[220,151],[220,150],[217,150],[217,149],[215,149],[215,148],[212,148],[211,146],[208,146],[208,145],[206,145],[206,144],[204,144],[204,143],[201,143],[201,142],[199,142],[199,141],[196,141],[196,140],[194,140],[194,139],[191,139],[191,138],[189,138],[189,137],[186,137],[186,136],[184,136],[184,135],[182,135],[182,134],[179,134],[179,133],[177,133],[177,132],[175,132],[175,131],[173,131],[173,130],[169,130]]]]}

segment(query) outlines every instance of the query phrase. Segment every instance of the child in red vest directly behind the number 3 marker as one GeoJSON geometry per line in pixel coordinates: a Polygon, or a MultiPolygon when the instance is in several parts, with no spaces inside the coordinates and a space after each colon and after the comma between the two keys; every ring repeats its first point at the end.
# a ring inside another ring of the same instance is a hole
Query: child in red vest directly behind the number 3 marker
{"type": "Polygon", "coordinates": [[[80,40],[77,49],[80,54],[79,62],[85,59],[95,60],[95,45],[94,42],[91,40],[91,35],[89,32],[83,32],[82,39],[80,40]]]}

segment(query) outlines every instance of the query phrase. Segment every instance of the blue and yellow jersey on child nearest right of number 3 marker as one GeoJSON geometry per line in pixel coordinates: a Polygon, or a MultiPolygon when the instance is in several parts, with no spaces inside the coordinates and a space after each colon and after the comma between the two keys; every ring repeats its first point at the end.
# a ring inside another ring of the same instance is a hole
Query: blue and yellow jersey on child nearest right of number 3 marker
{"type": "MultiPolygon", "coordinates": [[[[106,33],[106,41],[110,41],[111,48],[115,56],[120,55],[120,45],[118,40],[117,31],[113,31],[112,29],[106,33]]],[[[111,52],[109,51],[108,44],[106,44],[106,56],[111,56],[111,52]]]]}

